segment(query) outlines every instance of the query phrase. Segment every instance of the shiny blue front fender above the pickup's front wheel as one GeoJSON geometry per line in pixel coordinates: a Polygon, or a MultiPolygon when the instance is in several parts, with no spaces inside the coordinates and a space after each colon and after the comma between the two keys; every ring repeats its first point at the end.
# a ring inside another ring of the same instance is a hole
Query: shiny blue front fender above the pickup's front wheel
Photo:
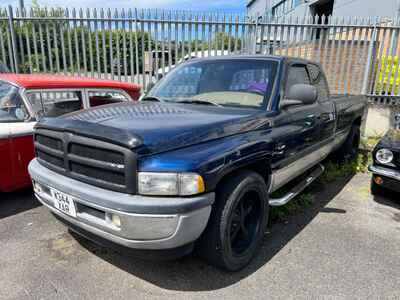
{"type": "Polygon", "coordinates": [[[206,190],[212,191],[226,174],[249,164],[269,161],[273,149],[269,132],[252,131],[139,157],[138,169],[140,172],[195,172],[203,177],[206,190]]]}

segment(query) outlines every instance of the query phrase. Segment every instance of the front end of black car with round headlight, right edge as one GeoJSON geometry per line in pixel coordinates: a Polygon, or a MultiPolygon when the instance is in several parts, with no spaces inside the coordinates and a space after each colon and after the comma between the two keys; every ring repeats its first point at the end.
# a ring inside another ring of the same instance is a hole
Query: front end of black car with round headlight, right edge
{"type": "Polygon", "coordinates": [[[373,153],[371,192],[384,189],[400,192],[400,130],[391,129],[380,140],[373,153]]]}

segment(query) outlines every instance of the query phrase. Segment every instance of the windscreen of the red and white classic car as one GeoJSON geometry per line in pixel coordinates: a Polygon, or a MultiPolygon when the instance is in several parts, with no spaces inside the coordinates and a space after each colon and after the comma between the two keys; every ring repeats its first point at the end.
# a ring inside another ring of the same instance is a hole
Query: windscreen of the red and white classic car
{"type": "Polygon", "coordinates": [[[0,83],[0,122],[18,122],[29,119],[18,88],[0,83]]]}

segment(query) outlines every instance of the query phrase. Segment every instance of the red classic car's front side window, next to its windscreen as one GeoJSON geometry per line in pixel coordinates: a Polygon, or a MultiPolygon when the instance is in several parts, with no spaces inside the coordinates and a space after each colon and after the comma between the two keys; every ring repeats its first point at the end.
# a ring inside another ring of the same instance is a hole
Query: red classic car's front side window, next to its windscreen
{"type": "Polygon", "coordinates": [[[58,117],[83,108],[81,91],[29,91],[26,95],[38,117],[58,117]]]}

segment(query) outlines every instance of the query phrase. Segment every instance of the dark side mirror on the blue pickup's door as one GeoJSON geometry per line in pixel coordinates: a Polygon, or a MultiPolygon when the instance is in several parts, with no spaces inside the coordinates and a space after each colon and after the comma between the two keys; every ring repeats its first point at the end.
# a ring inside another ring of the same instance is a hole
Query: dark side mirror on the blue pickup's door
{"type": "Polygon", "coordinates": [[[315,86],[310,84],[295,84],[290,87],[285,98],[281,102],[281,108],[291,105],[313,104],[318,99],[318,91],[315,86]]]}

